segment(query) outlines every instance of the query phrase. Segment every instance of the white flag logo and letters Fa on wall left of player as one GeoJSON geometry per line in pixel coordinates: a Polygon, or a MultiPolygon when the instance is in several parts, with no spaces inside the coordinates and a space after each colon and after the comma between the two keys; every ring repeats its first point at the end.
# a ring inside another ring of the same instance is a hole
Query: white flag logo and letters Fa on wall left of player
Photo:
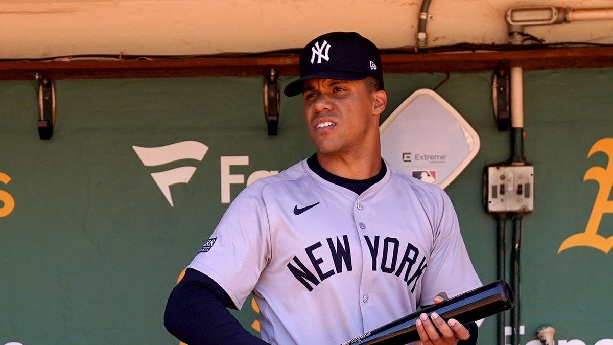
{"type": "MultiPolygon", "coordinates": [[[[173,161],[192,160],[202,161],[208,151],[208,146],[198,141],[181,141],[159,147],[142,147],[133,145],[132,149],[145,166],[161,166],[173,161]]],[[[221,203],[230,203],[230,185],[244,184],[245,176],[230,174],[230,167],[235,165],[249,165],[249,156],[222,156],[221,163],[221,203]]],[[[151,172],[151,177],[158,185],[162,195],[170,206],[174,206],[170,186],[175,184],[188,184],[196,172],[196,166],[186,164],[179,168],[151,172]]],[[[258,170],[252,172],[247,178],[247,184],[266,176],[278,174],[277,170],[258,170]]]]}

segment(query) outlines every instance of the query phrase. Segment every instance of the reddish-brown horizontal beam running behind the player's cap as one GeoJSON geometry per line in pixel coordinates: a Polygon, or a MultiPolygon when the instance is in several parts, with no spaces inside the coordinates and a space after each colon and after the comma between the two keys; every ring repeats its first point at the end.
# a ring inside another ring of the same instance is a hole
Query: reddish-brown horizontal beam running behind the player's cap
{"type": "MultiPolygon", "coordinates": [[[[494,70],[501,61],[524,69],[613,68],[613,47],[547,48],[489,52],[386,53],[383,70],[446,72],[494,70]]],[[[264,76],[298,74],[298,57],[202,57],[132,60],[0,61],[0,80],[264,76]]]]}

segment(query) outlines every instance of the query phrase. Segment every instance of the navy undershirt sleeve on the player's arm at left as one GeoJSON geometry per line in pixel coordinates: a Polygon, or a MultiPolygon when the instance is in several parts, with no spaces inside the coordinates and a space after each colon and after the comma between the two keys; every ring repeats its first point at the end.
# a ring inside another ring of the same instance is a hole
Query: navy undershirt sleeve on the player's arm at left
{"type": "Polygon", "coordinates": [[[267,344],[249,333],[230,313],[234,303],[213,279],[188,268],[170,293],[164,326],[189,345],[267,344]]]}

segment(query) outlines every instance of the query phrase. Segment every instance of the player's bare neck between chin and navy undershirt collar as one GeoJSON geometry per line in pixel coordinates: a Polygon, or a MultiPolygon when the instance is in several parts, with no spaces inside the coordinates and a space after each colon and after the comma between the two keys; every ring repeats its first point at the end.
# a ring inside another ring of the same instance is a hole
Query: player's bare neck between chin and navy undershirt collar
{"type": "Polygon", "coordinates": [[[351,180],[365,180],[381,171],[381,155],[326,155],[318,152],[319,165],[336,176],[351,180]]]}

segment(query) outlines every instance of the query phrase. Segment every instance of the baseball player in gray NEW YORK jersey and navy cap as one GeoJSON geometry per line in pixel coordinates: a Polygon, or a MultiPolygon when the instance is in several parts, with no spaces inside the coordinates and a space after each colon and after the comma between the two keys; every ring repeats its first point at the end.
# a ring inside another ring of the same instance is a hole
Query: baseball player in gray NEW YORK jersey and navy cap
{"type": "MultiPolygon", "coordinates": [[[[442,301],[441,292],[481,286],[446,193],[381,158],[387,96],[372,42],[317,37],[284,93],[302,95],[316,153],[230,204],[170,294],[170,333],[187,344],[341,344],[442,301]],[[262,339],[227,310],[250,293],[262,339]]],[[[476,341],[476,327],[436,314],[422,314],[417,330],[417,343],[476,341]]]]}

